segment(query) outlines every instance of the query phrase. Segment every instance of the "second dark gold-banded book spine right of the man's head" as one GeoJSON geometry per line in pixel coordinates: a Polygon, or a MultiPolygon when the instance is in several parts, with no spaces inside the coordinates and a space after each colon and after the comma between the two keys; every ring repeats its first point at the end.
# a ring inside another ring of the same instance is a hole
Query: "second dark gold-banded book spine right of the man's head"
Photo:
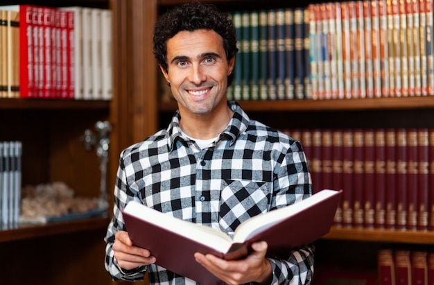
{"type": "Polygon", "coordinates": [[[249,100],[250,99],[250,12],[241,12],[241,29],[242,37],[241,37],[241,55],[243,58],[241,59],[243,62],[242,65],[242,80],[241,80],[241,99],[249,100]]]}

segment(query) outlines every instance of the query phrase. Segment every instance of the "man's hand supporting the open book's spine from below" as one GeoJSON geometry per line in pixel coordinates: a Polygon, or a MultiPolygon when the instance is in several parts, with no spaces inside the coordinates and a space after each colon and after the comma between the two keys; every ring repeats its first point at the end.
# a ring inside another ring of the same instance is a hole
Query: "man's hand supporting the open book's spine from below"
{"type": "Polygon", "coordinates": [[[244,284],[257,282],[270,284],[272,282],[272,268],[266,259],[268,245],[265,241],[252,244],[252,252],[242,260],[226,261],[212,254],[196,252],[196,261],[207,268],[209,272],[227,284],[244,284]]]}

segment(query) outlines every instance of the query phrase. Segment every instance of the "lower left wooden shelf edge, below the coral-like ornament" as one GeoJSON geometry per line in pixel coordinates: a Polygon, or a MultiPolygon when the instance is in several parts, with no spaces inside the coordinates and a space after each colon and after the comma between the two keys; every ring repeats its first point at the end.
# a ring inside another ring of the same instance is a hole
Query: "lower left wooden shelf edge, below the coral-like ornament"
{"type": "Polygon", "coordinates": [[[16,229],[0,230],[0,243],[21,239],[34,239],[55,234],[101,230],[106,228],[108,223],[109,218],[100,216],[75,221],[47,223],[45,225],[19,225],[16,229]]]}

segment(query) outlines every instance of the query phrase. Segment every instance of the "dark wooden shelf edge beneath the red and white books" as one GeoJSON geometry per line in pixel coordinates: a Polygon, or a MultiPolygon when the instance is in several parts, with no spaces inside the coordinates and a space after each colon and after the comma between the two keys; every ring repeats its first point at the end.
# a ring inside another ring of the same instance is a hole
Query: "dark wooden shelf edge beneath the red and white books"
{"type": "Polygon", "coordinates": [[[110,101],[0,98],[0,110],[109,110],[110,101]]]}

